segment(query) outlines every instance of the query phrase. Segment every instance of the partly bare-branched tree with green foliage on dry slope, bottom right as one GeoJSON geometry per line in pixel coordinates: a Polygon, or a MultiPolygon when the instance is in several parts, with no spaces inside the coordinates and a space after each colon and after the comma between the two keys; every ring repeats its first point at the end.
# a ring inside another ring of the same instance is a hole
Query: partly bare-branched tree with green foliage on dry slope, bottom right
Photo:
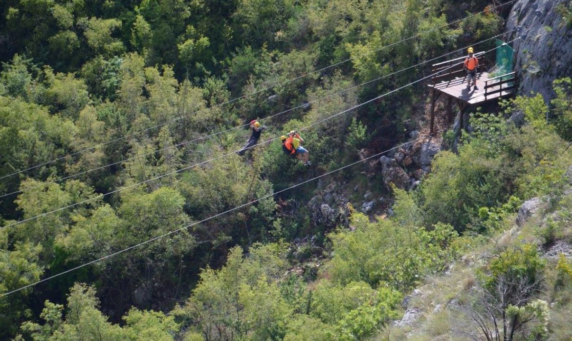
{"type": "Polygon", "coordinates": [[[478,326],[478,334],[471,334],[468,328],[459,331],[490,340],[512,341],[520,337],[517,335],[546,339],[548,306],[545,301],[533,300],[542,286],[544,267],[533,244],[499,254],[486,268],[481,287],[472,293],[472,302],[463,307],[469,323],[478,326]]]}

